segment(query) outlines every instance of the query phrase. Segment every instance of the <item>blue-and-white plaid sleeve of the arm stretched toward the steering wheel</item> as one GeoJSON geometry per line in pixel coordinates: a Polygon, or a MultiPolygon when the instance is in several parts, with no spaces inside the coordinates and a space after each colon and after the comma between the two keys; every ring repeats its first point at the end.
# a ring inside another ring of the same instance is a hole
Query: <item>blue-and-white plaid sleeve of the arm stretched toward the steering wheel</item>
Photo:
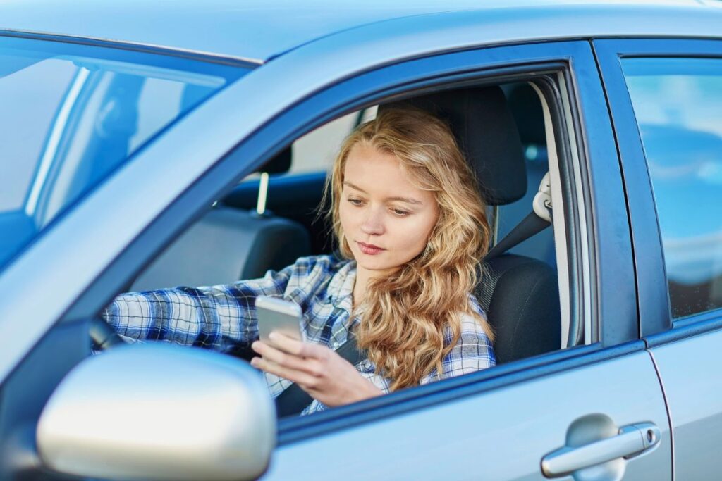
{"type": "Polygon", "coordinates": [[[297,265],[228,285],[121,294],[100,315],[130,340],[226,350],[258,337],[256,296],[282,295],[294,274],[297,265]]]}

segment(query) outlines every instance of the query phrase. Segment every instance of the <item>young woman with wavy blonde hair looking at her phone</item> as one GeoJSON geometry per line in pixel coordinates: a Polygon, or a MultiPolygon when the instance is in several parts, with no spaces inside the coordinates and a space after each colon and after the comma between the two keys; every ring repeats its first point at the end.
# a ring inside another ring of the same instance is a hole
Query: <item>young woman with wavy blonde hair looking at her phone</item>
{"type": "Polygon", "coordinates": [[[339,257],[225,286],[123,294],[103,317],[131,340],[250,344],[271,396],[295,382],[313,397],[304,414],[495,365],[470,294],[490,229],[448,127],[411,107],[381,110],[344,141],[326,194],[339,257]],[[304,342],[257,340],[259,295],[301,306],[304,342]],[[357,366],[334,352],[351,333],[367,353],[357,366]]]}

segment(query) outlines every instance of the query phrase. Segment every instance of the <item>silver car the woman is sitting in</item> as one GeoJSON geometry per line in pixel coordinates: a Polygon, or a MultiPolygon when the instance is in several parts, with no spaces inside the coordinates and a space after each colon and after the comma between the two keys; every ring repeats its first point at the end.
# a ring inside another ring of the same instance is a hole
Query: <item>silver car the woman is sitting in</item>
{"type": "Polygon", "coordinates": [[[717,479],[722,4],[303,3],[0,5],[0,478],[717,479]],[[247,353],[92,355],[121,292],[330,252],[329,156],[434,95],[497,366],[299,417],[247,353]]]}

